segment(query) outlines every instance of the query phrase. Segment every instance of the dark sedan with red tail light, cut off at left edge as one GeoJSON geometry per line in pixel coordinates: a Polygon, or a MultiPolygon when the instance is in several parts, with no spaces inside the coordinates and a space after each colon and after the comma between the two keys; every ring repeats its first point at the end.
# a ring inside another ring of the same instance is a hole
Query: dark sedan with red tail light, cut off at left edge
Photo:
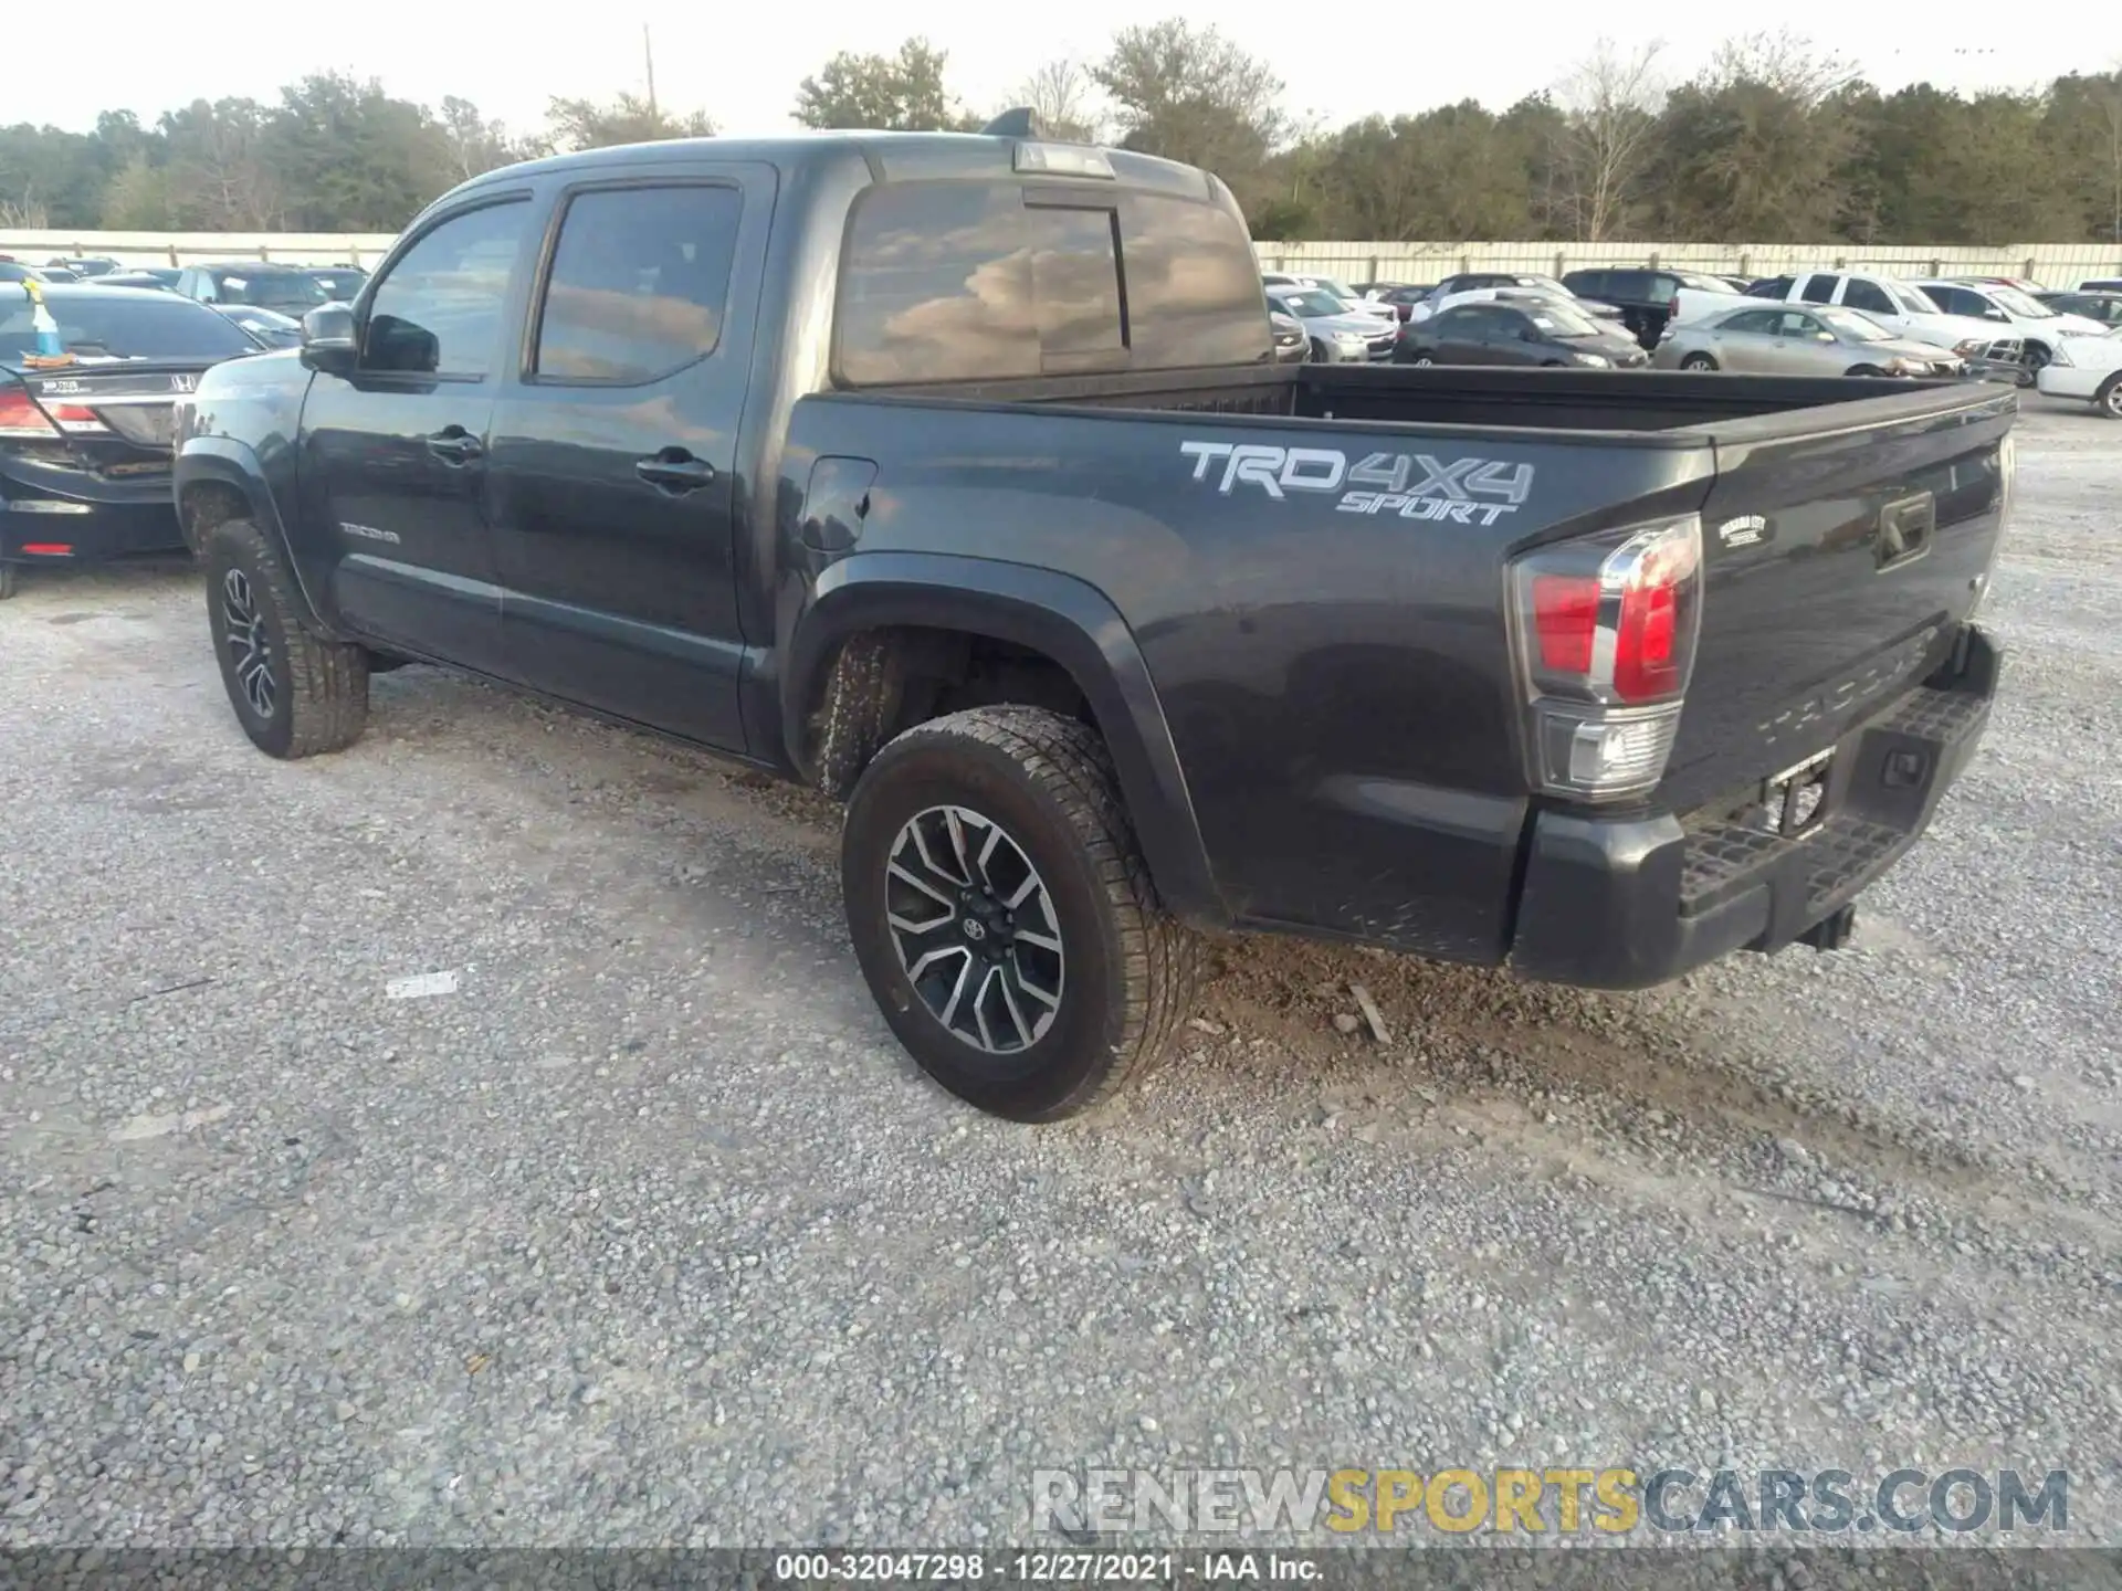
{"type": "Polygon", "coordinates": [[[0,596],[23,564],[182,547],[170,499],[178,397],[259,342],[174,293],[38,284],[68,363],[36,359],[34,303],[0,286],[0,596]]]}

